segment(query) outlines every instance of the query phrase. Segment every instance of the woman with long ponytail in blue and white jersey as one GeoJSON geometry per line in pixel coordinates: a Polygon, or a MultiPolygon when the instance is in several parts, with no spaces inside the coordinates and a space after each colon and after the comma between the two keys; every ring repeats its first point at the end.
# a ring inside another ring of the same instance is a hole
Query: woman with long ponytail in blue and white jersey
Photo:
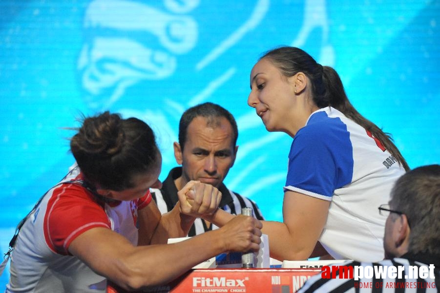
{"type": "MultiPolygon", "coordinates": [[[[269,51],[251,70],[248,105],[268,131],[293,138],[283,222],[263,221],[271,256],[384,258],[386,204],[408,165],[390,137],[349,102],[336,71],[295,47],[269,51]]],[[[231,216],[217,211],[211,222],[231,216]]]]}

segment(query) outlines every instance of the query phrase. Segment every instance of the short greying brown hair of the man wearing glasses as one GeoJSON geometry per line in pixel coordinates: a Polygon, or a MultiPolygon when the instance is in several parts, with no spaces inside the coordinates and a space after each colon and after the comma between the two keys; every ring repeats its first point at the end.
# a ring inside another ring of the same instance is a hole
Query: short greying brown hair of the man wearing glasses
{"type": "Polygon", "coordinates": [[[418,167],[401,176],[391,192],[390,205],[408,218],[408,251],[439,255],[440,165],[418,167]]]}

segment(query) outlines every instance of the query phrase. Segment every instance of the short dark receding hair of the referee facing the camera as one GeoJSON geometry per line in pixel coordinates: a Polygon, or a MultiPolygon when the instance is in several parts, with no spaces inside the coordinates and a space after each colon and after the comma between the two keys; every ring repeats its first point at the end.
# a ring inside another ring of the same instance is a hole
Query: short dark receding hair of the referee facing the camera
{"type": "Polygon", "coordinates": [[[232,114],[225,108],[220,105],[213,104],[210,102],[195,105],[186,110],[179,122],[179,144],[180,148],[183,150],[185,143],[187,141],[187,131],[188,126],[191,121],[196,117],[205,117],[208,119],[208,126],[217,126],[220,125],[219,118],[226,118],[230,125],[232,126],[232,130],[234,132],[233,137],[233,146],[237,144],[238,138],[238,128],[237,123],[235,122],[232,114]]]}

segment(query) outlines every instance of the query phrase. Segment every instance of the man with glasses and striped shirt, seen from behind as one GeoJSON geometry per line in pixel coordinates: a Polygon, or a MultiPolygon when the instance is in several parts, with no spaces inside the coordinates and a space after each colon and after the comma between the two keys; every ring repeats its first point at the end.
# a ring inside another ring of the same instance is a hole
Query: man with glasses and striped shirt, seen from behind
{"type": "Polygon", "coordinates": [[[298,293],[359,292],[363,290],[361,287],[371,288],[367,290],[373,292],[438,292],[440,165],[418,167],[401,176],[391,191],[389,204],[383,204],[378,209],[380,214],[387,216],[383,241],[385,260],[378,263],[348,261],[337,264],[353,267],[354,271],[359,266],[364,269],[373,267],[373,277],[354,280],[336,275],[323,278],[319,273],[310,278],[298,293]],[[388,271],[382,276],[374,273],[390,267],[396,267],[396,272],[401,269],[400,276],[388,271]],[[418,276],[413,272],[419,272],[418,276]]]}

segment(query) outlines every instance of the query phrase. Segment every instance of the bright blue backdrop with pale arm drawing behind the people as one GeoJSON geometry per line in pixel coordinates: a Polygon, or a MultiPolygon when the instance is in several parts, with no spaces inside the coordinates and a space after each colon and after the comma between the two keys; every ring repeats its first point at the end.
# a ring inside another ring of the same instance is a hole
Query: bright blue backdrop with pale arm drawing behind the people
{"type": "Polygon", "coordinates": [[[106,109],[154,128],[165,179],[182,112],[226,107],[239,127],[226,184],[282,221],[291,138],[246,102],[253,64],[278,45],[335,67],[411,168],[440,163],[439,0],[2,0],[0,18],[1,251],[73,164],[65,127],[106,109]]]}

